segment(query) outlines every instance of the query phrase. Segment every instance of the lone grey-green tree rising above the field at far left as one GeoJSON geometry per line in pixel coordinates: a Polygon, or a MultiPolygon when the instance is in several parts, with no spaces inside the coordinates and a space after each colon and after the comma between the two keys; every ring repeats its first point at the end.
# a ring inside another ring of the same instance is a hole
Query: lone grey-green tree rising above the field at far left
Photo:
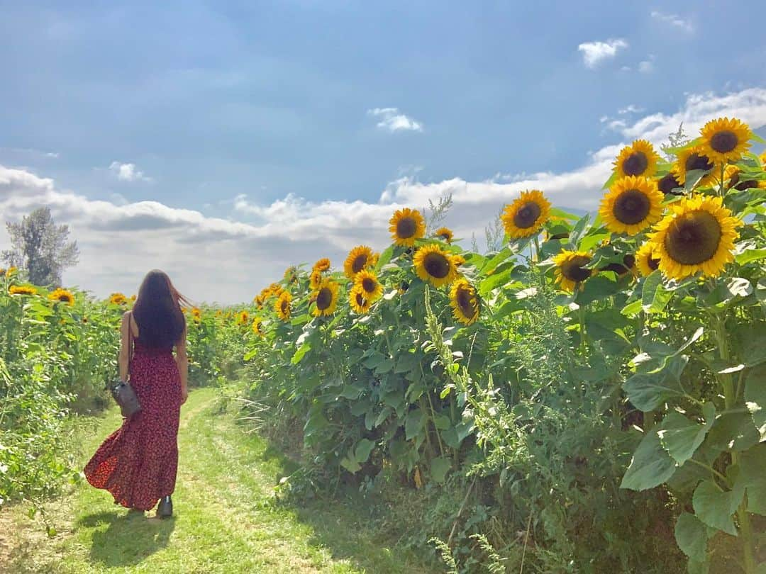
{"type": "Polygon", "coordinates": [[[77,241],[69,241],[69,226],[56,225],[51,210],[40,207],[21,223],[6,222],[11,249],[2,253],[8,265],[26,269],[34,285],[61,285],[61,274],[77,264],[77,241]]]}

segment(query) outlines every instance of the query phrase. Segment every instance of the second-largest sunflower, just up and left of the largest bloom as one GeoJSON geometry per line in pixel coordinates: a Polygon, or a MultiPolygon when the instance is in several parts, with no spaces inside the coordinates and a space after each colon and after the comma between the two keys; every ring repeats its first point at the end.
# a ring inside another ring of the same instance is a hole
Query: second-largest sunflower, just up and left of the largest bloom
{"type": "Polygon", "coordinates": [[[628,175],[614,182],[598,213],[612,233],[635,235],[660,220],[663,194],[653,180],[628,175]]]}

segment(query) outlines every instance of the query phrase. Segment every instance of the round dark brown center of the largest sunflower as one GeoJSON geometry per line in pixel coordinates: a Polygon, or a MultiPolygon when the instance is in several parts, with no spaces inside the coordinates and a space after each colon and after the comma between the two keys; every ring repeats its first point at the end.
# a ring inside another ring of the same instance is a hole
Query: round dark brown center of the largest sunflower
{"type": "Polygon", "coordinates": [[[715,255],[721,243],[721,225],[707,211],[689,211],[673,220],[665,236],[665,249],[684,265],[698,265],[715,255]]]}

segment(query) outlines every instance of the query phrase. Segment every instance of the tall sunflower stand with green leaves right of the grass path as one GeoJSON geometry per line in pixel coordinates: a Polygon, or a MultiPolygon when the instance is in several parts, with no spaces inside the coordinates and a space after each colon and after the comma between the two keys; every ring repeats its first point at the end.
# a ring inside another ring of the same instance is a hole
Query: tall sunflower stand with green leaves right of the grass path
{"type": "Polygon", "coordinates": [[[381,253],[218,311],[261,428],[303,445],[280,489],[408,484],[408,540],[453,571],[764,572],[754,143],[727,118],[672,161],[633,142],[594,217],[524,191],[490,253],[401,209],[381,253]]]}

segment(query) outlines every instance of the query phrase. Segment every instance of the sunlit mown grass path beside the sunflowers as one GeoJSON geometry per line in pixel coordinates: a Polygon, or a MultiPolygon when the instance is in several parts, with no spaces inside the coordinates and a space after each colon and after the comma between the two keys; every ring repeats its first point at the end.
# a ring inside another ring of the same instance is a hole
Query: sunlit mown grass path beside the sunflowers
{"type": "MultiPolygon", "coordinates": [[[[112,410],[85,455],[117,426],[112,410]]],[[[48,507],[54,539],[21,509],[3,517],[11,556],[0,572],[429,572],[365,527],[360,509],[273,504],[273,484],[289,463],[221,413],[215,390],[191,393],[178,445],[172,520],[128,515],[106,491],[80,484],[48,507]]]]}

